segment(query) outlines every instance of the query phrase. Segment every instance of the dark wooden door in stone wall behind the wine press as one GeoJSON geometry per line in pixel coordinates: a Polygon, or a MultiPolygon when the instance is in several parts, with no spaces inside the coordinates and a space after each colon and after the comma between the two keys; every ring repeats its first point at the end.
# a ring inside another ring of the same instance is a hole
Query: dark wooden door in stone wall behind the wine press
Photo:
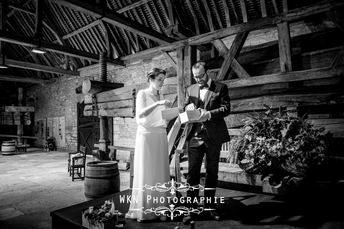
{"type": "Polygon", "coordinates": [[[84,116],[84,103],[78,103],[78,146],[87,146],[87,154],[92,155],[94,144],[99,142],[100,118],[96,116],[84,116]]]}

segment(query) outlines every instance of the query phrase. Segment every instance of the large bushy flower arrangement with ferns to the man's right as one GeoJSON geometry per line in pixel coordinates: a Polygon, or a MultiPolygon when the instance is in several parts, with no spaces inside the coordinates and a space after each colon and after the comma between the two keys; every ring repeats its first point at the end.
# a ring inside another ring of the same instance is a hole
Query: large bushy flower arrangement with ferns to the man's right
{"type": "Polygon", "coordinates": [[[239,160],[245,172],[282,169],[298,176],[307,176],[316,165],[327,162],[324,128],[316,129],[304,117],[289,116],[287,111],[268,111],[249,116],[242,135],[230,142],[227,162],[239,160]]]}

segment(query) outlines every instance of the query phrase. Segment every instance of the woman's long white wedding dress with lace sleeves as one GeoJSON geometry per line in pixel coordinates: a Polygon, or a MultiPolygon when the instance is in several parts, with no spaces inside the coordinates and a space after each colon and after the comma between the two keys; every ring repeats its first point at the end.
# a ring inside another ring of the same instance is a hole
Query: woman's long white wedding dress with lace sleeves
{"type": "MultiPolygon", "coordinates": [[[[164,100],[161,94],[160,100],[164,100]]],[[[169,199],[167,198],[171,196],[169,191],[152,191],[144,187],[145,185],[163,185],[170,181],[167,124],[161,116],[161,111],[165,110],[166,106],[158,106],[152,113],[144,117],[143,109],[155,102],[147,89],[138,92],[136,99],[138,128],[135,144],[133,190],[126,218],[139,220],[159,218],[162,215],[156,215],[154,212],[145,214],[143,211],[168,207],[171,204],[168,203],[169,199]],[[135,197],[137,197],[137,203],[134,201],[135,197]],[[158,199],[158,201],[154,201],[154,198],[158,199]]],[[[170,185],[166,186],[169,187],[170,185]]]]}

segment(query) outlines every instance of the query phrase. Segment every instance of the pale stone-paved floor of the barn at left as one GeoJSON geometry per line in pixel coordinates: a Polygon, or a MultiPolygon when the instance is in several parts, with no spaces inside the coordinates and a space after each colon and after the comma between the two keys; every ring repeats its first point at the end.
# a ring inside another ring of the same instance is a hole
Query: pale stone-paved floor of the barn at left
{"type": "MultiPolygon", "coordinates": [[[[67,172],[68,152],[29,148],[14,156],[0,154],[0,228],[51,228],[50,212],[87,201],[84,181],[67,172]]],[[[86,162],[92,161],[87,156],[86,162]]],[[[120,190],[129,188],[126,164],[118,164],[120,190]]]]}

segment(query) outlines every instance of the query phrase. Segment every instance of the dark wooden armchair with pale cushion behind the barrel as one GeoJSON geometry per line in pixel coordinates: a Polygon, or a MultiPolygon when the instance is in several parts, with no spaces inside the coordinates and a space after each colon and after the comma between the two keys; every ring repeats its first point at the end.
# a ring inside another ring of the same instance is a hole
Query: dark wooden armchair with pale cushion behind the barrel
{"type": "Polygon", "coordinates": [[[72,181],[74,181],[75,179],[83,179],[83,180],[85,179],[86,151],[87,151],[87,146],[84,147],[80,145],[79,152],[69,153],[68,172],[69,172],[69,176],[72,176],[72,181]],[[78,153],[80,153],[81,155],[75,156],[78,153]],[[82,175],[83,168],[84,168],[84,172],[82,175]],[[78,174],[79,176],[74,177],[75,174],[78,174]]]}

